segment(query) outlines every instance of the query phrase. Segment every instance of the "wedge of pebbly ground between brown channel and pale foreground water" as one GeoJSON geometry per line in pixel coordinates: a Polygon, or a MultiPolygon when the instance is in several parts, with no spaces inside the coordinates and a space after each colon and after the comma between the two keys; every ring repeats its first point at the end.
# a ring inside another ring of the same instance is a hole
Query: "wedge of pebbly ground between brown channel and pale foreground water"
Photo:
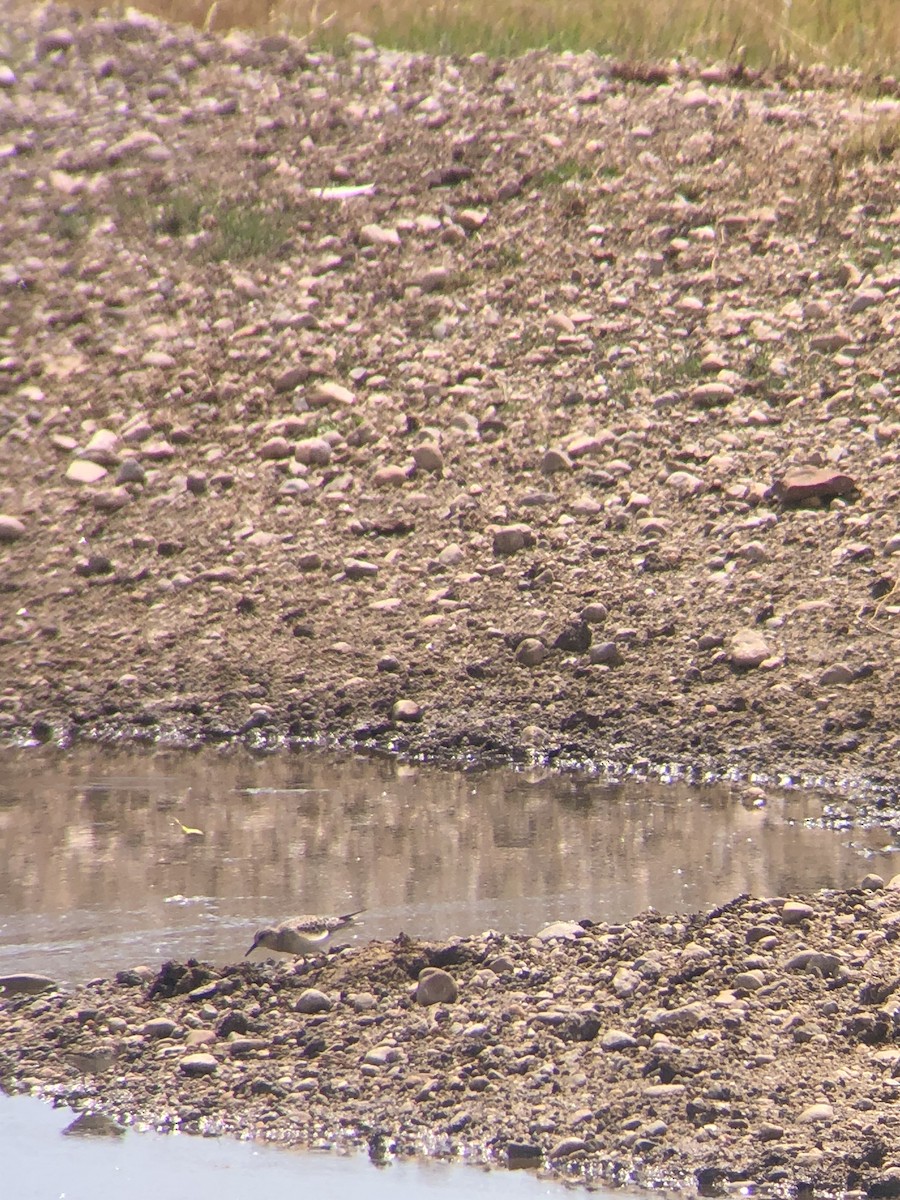
{"type": "Polygon", "coordinates": [[[718,1194],[895,1195],[900,877],[534,937],[0,980],[0,1081],[115,1124],[718,1194]]]}

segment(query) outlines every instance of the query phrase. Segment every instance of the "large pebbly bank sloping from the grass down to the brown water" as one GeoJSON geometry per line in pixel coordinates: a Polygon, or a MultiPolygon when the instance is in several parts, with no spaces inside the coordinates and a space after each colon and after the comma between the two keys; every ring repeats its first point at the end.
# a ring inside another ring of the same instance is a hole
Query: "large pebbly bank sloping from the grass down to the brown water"
{"type": "Polygon", "coordinates": [[[13,10],[0,734],[889,780],[898,102],[828,82],[13,10]]]}

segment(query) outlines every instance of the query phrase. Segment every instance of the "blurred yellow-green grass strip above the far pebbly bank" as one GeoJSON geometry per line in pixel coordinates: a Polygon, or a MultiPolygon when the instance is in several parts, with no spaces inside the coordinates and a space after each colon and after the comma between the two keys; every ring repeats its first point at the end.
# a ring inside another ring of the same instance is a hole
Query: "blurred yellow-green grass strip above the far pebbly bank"
{"type": "Polygon", "coordinates": [[[143,0],[142,7],[202,29],[287,30],[329,48],[356,32],[444,54],[546,47],[634,60],[826,62],[871,73],[895,72],[900,61],[898,0],[143,0]]]}

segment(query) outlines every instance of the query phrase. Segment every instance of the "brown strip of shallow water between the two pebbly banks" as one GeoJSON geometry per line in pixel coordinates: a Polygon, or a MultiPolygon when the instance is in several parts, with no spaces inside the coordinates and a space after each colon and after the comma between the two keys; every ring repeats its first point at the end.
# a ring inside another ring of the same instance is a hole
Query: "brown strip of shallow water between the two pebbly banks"
{"type": "Polygon", "coordinates": [[[756,806],[727,787],[325,755],[8,755],[0,973],[235,960],[257,923],[304,911],[365,907],[356,937],[443,938],[894,874],[889,853],[866,860],[847,835],[806,828],[820,808],[800,793],[756,806]]]}

